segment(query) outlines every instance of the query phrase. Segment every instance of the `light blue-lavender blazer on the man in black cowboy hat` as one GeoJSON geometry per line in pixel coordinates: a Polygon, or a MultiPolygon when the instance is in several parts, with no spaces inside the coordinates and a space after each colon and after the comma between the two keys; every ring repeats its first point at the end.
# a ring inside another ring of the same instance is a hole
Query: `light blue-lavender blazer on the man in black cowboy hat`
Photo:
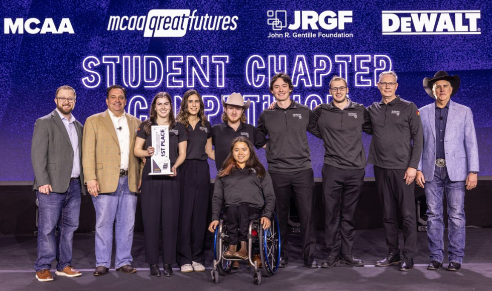
{"type": "MultiPolygon", "coordinates": [[[[435,103],[419,109],[424,131],[424,150],[418,170],[432,181],[436,167],[435,103]]],[[[465,181],[469,172],[478,172],[478,145],[471,109],[449,100],[444,134],[444,153],[449,179],[465,181]]]]}

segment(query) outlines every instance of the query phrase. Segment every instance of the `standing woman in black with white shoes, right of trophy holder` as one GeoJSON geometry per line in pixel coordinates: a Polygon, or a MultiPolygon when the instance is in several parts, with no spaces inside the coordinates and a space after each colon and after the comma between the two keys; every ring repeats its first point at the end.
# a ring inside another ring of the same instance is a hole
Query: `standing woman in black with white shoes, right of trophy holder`
{"type": "Polygon", "coordinates": [[[190,89],[184,93],[177,119],[188,133],[188,147],[186,161],[180,168],[181,202],[176,262],[181,272],[202,272],[205,270],[203,248],[210,198],[207,158],[212,151],[212,130],[198,91],[190,89]]]}

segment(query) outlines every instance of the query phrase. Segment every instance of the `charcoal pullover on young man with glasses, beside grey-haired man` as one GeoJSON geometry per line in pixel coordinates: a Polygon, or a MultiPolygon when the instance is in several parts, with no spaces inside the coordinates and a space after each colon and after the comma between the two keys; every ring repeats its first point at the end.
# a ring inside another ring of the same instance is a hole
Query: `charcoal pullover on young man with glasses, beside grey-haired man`
{"type": "Polygon", "coordinates": [[[343,110],[333,101],[313,110],[323,138],[324,163],[340,169],[363,169],[366,163],[362,130],[372,134],[371,119],[364,105],[347,100],[348,105],[343,110]]]}

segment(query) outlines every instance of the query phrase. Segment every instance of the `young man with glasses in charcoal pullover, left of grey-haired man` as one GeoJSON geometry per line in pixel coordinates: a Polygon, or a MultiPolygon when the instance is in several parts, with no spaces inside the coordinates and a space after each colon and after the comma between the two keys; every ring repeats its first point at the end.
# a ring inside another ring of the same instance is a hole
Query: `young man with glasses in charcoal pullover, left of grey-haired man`
{"type": "Polygon", "coordinates": [[[329,256],[321,267],[331,268],[340,263],[362,266],[364,262],[352,255],[353,218],[364,186],[362,130],[372,134],[371,119],[364,105],[347,98],[344,78],[335,75],[330,81],[330,92],[333,100],[313,110],[325,148],[323,204],[329,256]]]}

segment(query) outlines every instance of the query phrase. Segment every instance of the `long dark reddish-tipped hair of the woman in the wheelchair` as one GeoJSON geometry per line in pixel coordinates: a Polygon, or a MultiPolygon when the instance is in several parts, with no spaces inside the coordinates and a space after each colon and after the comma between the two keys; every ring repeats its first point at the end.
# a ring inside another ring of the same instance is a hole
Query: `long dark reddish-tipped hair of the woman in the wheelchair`
{"type": "Polygon", "coordinates": [[[250,149],[250,158],[248,159],[248,161],[246,161],[245,168],[249,168],[250,172],[254,171],[258,178],[265,177],[265,167],[263,167],[262,163],[258,159],[258,156],[256,155],[255,149],[253,147],[253,143],[244,136],[238,136],[232,139],[232,142],[230,143],[229,155],[227,156],[227,159],[225,159],[224,164],[222,165],[222,169],[220,169],[217,176],[225,177],[230,175],[232,171],[237,170],[237,163],[236,160],[234,160],[234,156],[232,155],[232,152],[234,151],[234,144],[236,142],[244,142],[248,144],[248,148],[250,149]]]}

